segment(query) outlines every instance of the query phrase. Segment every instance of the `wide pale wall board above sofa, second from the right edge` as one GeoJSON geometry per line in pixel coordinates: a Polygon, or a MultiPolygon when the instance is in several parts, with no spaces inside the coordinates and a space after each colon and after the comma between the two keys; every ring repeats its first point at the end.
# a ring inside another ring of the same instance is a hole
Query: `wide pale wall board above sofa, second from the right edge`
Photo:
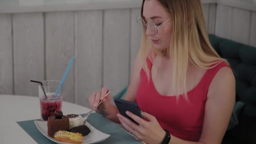
{"type": "Polygon", "coordinates": [[[250,11],[234,8],[231,40],[248,44],[250,40],[250,11]]]}

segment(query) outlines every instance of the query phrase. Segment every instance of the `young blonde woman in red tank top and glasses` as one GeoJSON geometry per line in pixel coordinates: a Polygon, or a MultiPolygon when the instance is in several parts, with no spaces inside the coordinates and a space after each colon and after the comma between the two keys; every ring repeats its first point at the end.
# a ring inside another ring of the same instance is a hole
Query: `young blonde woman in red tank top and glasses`
{"type": "Polygon", "coordinates": [[[144,25],[125,99],[136,102],[144,119],[118,114],[108,88],[89,97],[91,107],[121,123],[148,144],[221,144],[235,103],[235,77],[214,51],[201,0],[143,0],[144,25]],[[170,139],[171,138],[171,139],[170,139]]]}

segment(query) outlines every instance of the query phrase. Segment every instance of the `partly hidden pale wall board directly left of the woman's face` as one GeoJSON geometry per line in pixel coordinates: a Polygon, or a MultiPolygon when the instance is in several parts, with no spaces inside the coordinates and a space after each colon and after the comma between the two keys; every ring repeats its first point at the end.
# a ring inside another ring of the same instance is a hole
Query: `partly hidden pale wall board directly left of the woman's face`
{"type": "Polygon", "coordinates": [[[140,16],[140,12],[140,8],[131,9],[130,79],[133,70],[133,63],[141,46],[142,27],[139,26],[136,20],[136,17],[140,16]]]}

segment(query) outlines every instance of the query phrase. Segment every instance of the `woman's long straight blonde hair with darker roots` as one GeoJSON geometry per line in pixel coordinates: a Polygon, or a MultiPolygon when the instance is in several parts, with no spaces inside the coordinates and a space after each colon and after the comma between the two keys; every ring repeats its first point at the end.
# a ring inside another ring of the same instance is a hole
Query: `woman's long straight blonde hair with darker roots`
{"type": "MultiPolygon", "coordinates": [[[[149,79],[149,68],[147,57],[154,61],[155,55],[168,54],[173,65],[172,91],[181,93],[186,100],[187,85],[186,75],[188,64],[203,69],[211,69],[217,64],[225,61],[213,49],[208,38],[203,17],[201,0],[158,0],[171,14],[173,33],[169,53],[154,48],[152,42],[147,41],[146,27],[143,27],[141,40],[141,58],[143,69],[149,79]],[[149,44],[149,45],[148,45],[149,44]],[[150,50],[148,51],[148,47],[150,50]],[[213,67],[210,67],[215,64],[213,67]]],[[[141,17],[143,17],[143,5],[141,6],[141,17]]],[[[179,95],[178,95],[179,96],[179,95]]]]}

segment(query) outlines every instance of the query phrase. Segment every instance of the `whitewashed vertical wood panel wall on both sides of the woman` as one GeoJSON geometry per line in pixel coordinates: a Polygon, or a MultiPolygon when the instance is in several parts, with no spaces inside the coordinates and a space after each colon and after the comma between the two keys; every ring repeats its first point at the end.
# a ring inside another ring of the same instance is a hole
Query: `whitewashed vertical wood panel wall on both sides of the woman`
{"type": "MultiPolygon", "coordinates": [[[[219,4],[204,4],[203,11],[208,33],[256,46],[256,12],[219,4]]],[[[1,14],[0,94],[37,96],[29,80],[61,80],[75,56],[64,100],[88,107],[101,87],[114,95],[131,78],[139,15],[140,8],[1,14]]]]}

